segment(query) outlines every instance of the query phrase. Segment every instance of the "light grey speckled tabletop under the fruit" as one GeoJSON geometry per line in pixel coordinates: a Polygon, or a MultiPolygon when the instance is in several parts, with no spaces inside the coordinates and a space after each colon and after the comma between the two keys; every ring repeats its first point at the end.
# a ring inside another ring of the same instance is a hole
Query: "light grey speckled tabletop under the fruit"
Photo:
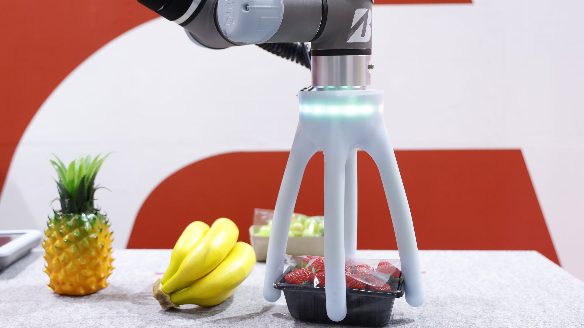
{"type": "MultiPolygon", "coordinates": [[[[110,285],[88,296],[48,289],[43,251],[0,271],[0,327],[244,327],[331,326],[299,322],[284,297],[263,299],[265,265],[258,263],[234,296],[211,308],[163,310],[152,284],[170,250],[115,250],[110,285]]],[[[363,259],[395,259],[396,251],[361,250],[363,259]]],[[[420,251],[426,303],[394,305],[388,326],[584,327],[584,282],[537,252],[420,251]]]]}

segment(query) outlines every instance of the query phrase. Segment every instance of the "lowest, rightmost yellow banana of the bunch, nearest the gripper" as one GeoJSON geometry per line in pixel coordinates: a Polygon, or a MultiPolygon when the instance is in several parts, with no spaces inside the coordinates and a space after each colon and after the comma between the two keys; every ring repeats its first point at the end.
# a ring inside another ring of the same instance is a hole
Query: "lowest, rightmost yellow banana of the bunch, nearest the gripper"
{"type": "Polygon", "coordinates": [[[227,257],[213,271],[193,282],[189,287],[172,293],[171,300],[173,303],[186,304],[187,300],[192,299],[218,298],[241,284],[252,272],[255,261],[252,246],[248,243],[237,242],[227,257]]]}

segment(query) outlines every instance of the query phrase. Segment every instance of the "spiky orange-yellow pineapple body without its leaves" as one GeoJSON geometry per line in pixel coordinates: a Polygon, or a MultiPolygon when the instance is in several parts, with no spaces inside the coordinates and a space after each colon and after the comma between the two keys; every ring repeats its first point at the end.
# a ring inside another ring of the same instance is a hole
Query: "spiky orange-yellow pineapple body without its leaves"
{"type": "Polygon", "coordinates": [[[107,287],[113,236],[106,215],[56,212],[47,222],[45,236],[48,287],[61,295],[88,295],[107,287]]]}

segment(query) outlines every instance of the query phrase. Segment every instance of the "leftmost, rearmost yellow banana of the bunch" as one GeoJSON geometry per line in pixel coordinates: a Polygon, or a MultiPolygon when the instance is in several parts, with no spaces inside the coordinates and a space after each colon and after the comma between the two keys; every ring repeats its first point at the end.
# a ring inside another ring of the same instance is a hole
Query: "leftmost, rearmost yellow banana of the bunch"
{"type": "Polygon", "coordinates": [[[180,235],[179,240],[176,240],[175,248],[172,250],[171,264],[169,264],[166,272],[162,276],[162,284],[165,284],[176,273],[180,267],[180,263],[197,246],[197,243],[207,231],[209,231],[209,225],[205,222],[194,221],[187,225],[185,231],[180,235]]]}

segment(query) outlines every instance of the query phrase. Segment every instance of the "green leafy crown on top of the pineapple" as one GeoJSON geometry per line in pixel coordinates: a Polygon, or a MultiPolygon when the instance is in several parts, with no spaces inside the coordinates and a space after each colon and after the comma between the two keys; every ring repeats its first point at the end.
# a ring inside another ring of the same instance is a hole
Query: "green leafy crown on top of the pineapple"
{"type": "Polygon", "coordinates": [[[55,160],[50,160],[51,165],[57,171],[58,180],[57,191],[59,192],[59,202],[61,212],[64,213],[84,213],[96,212],[93,205],[95,190],[95,176],[98,175],[103,161],[110,155],[100,158],[99,154],[95,158],[91,155],[79,156],[69,166],[65,164],[53,153],[55,160]]]}

